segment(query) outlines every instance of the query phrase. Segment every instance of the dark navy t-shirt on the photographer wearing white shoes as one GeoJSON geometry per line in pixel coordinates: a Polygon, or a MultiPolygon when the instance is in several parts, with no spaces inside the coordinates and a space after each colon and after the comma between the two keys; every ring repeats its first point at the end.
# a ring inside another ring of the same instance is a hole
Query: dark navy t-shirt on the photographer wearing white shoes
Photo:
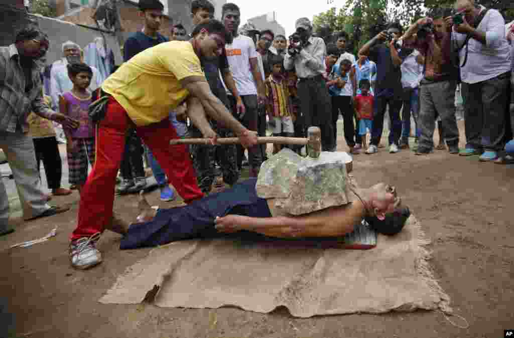
{"type": "MultiPolygon", "coordinates": [[[[400,59],[402,54],[399,53],[400,59]]],[[[401,69],[400,66],[395,66],[393,58],[391,57],[391,51],[385,44],[379,44],[371,48],[370,60],[377,64],[377,80],[375,96],[395,96],[399,97],[402,95],[403,88],[401,86],[401,69]]]]}

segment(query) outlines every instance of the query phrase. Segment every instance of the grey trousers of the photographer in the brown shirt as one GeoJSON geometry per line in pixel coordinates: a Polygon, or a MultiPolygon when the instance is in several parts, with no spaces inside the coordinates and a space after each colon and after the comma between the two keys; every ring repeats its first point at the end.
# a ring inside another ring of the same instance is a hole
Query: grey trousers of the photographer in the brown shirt
{"type": "Polygon", "coordinates": [[[421,135],[418,149],[430,151],[434,147],[434,128],[437,116],[443,124],[443,135],[448,145],[458,144],[455,118],[455,80],[422,83],[419,89],[418,128],[421,135]]]}

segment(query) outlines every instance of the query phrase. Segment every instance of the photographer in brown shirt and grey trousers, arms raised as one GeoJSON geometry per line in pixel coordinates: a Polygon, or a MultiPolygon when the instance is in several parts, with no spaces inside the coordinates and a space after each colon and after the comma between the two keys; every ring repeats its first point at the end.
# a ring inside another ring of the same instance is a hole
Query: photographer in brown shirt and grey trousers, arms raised
{"type": "Polygon", "coordinates": [[[457,74],[451,60],[451,27],[445,22],[450,9],[435,10],[419,19],[403,35],[404,47],[413,45],[425,65],[420,83],[420,137],[416,155],[425,155],[434,147],[435,120],[441,118],[443,135],[450,154],[458,154],[458,128],[455,119],[457,74]],[[417,32],[416,35],[414,33],[417,32]]]}

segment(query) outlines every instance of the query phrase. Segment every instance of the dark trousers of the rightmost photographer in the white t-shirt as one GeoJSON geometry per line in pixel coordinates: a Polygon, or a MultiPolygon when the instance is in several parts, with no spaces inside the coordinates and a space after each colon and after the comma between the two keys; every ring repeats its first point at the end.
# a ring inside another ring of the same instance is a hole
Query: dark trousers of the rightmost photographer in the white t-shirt
{"type": "Polygon", "coordinates": [[[505,136],[510,72],[478,83],[462,83],[466,147],[501,151],[505,136]]]}

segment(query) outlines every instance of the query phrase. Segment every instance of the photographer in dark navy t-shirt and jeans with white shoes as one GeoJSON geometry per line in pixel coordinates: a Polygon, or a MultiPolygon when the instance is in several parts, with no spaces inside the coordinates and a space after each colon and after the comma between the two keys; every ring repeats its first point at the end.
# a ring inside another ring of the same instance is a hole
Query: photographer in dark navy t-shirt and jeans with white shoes
{"type": "Polygon", "coordinates": [[[401,35],[402,28],[398,23],[388,25],[386,31],[378,33],[359,50],[361,55],[369,55],[377,65],[375,85],[375,117],[371,132],[371,142],[366,154],[378,152],[378,144],[382,136],[384,114],[389,104],[391,131],[389,132],[389,152],[398,152],[398,140],[401,134],[400,109],[403,88],[401,86],[400,65],[405,54],[400,51],[396,39],[401,35]],[[386,43],[384,43],[386,42],[386,43]]]}

